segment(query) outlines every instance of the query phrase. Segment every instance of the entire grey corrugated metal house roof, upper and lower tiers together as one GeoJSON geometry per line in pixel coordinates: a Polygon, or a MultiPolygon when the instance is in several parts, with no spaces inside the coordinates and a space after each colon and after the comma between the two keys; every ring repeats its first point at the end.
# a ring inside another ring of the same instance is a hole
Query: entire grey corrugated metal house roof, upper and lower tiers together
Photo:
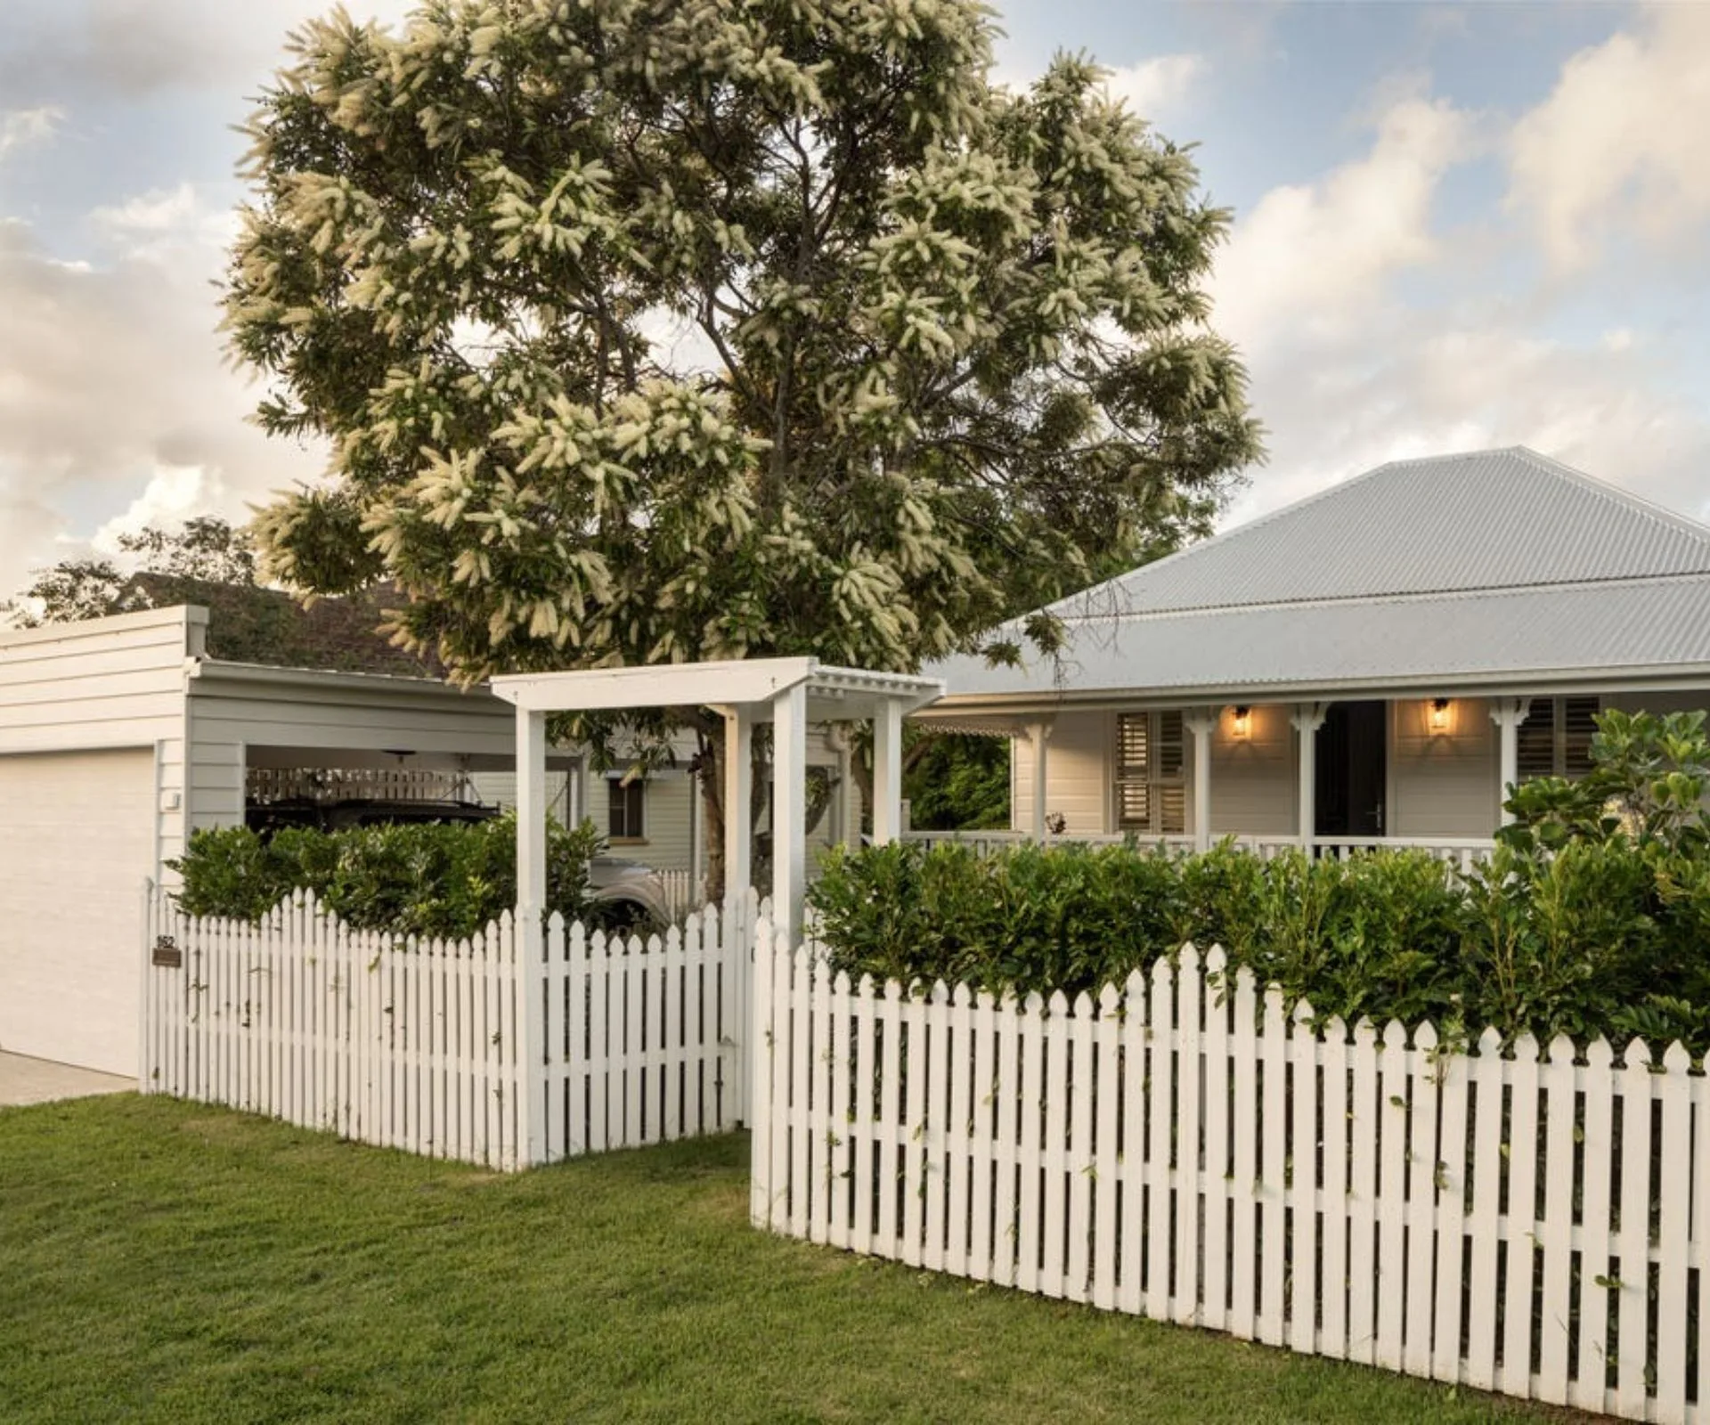
{"type": "Polygon", "coordinates": [[[1710,529],[1524,448],[1404,460],[1055,612],[1060,664],[923,672],[954,705],[1710,665],[1710,529]]]}

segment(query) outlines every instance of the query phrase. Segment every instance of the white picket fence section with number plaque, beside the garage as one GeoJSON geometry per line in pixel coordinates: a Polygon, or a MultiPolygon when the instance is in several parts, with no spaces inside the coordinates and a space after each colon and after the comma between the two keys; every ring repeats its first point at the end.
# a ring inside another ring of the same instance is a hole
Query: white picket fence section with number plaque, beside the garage
{"type": "Polygon", "coordinates": [[[742,1119],[754,915],[417,941],[308,895],[250,925],[150,888],[140,1085],[494,1168],[718,1132],[742,1119]]]}

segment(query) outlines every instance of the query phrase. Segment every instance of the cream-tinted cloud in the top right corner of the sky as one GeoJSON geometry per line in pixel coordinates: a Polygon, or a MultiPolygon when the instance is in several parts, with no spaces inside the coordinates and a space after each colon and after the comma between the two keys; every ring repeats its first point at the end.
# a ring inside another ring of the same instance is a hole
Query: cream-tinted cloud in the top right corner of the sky
{"type": "Polygon", "coordinates": [[[1513,127],[1510,210],[1558,274],[1631,231],[1669,245],[1710,219],[1710,7],[1666,5],[1563,65],[1513,127]]]}

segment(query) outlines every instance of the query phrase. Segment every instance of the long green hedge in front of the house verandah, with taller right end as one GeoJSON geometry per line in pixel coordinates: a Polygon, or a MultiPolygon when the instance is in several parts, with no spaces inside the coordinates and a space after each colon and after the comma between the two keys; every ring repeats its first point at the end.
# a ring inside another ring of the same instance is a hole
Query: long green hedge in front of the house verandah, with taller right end
{"type": "Polygon", "coordinates": [[[1710,748],[1703,717],[1607,713],[1595,770],[1530,782],[1471,872],[1426,852],[1260,860],[1233,845],[918,843],[833,855],[809,893],[836,968],[1096,992],[1187,941],[1353,1023],[1431,1020],[1541,1042],[1633,1035],[1710,1050],[1710,748]]]}

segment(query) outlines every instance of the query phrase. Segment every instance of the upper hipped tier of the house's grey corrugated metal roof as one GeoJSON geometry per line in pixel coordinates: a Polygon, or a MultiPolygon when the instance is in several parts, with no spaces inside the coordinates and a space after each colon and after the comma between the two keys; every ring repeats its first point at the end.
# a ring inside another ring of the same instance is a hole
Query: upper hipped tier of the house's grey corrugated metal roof
{"type": "Polygon", "coordinates": [[[1070,616],[1710,573],[1710,529],[1524,446],[1397,460],[1067,599],[1070,616]]]}

